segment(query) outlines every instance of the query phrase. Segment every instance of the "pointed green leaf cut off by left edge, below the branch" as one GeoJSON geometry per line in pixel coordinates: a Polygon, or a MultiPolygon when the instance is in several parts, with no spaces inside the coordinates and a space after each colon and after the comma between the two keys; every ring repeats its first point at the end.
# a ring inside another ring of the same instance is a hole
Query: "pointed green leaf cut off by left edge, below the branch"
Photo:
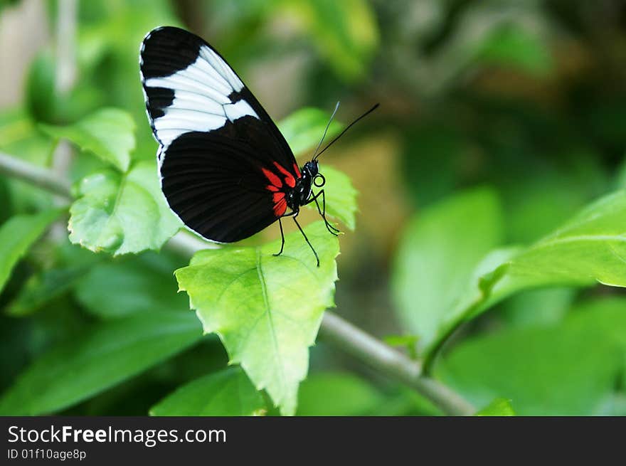
{"type": "Polygon", "coordinates": [[[0,291],[18,260],[60,213],[60,210],[52,210],[33,215],[16,215],[0,226],[0,291]]]}

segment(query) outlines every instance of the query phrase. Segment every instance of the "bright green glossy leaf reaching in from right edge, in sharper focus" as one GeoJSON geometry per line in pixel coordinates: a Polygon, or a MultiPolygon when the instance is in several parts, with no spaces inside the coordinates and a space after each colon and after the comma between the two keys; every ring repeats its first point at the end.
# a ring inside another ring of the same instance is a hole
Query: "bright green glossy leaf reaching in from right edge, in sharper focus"
{"type": "Polygon", "coordinates": [[[430,352],[462,322],[476,317],[521,290],[548,286],[585,287],[597,282],[626,286],[626,191],[595,201],[555,233],[529,248],[502,250],[499,260],[482,268],[442,326],[430,352]],[[486,280],[486,281],[485,281],[486,280]],[[473,290],[472,290],[473,288],[473,290]],[[473,296],[473,297],[472,297],[473,296]]]}

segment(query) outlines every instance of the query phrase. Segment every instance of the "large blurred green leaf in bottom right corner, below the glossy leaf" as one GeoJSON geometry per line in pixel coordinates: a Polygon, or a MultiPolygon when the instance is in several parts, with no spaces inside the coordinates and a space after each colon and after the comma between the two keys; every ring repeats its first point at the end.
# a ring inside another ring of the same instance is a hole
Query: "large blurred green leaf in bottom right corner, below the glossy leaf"
{"type": "Polygon", "coordinates": [[[591,415],[620,379],[626,301],[596,300],[563,324],[505,329],[455,346],[437,374],[477,406],[497,396],[518,415],[591,415]]]}

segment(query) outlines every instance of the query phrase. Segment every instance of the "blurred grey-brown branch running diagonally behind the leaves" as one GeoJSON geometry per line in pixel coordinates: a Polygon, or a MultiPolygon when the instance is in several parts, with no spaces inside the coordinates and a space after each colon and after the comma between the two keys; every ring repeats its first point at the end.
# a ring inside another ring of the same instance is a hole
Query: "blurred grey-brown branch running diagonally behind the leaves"
{"type": "MultiPolygon", "coordinates": [[[[15,176],[43,189],[71,198],[70,188],[48,169],[0,153],[0,173],[15,176]]],[[[168,245],[180,253],[193,255],[211,245],[191,236],[178,233],[168,245]]],[[[422,365],[409,359],[391,346],[346,322],[334,312],[324,313],[319,334],[334,346],[360,359],[383,374],[410,386],[435,403],[447,415],[471,415],[476,409],[451,388],[433,378],[422,375],[422,365]]]]}

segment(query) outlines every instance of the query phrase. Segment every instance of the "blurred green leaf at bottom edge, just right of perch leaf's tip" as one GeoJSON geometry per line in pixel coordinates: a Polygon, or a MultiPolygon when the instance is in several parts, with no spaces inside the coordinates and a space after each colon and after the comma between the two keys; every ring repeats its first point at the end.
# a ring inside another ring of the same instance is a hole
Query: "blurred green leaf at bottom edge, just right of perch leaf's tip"
{"type": "Polygon", "coordinates": [[[311,374],[298,391],[297,415],[367,415],[383,396],[363,378],[352,374],[311,374]]]}

